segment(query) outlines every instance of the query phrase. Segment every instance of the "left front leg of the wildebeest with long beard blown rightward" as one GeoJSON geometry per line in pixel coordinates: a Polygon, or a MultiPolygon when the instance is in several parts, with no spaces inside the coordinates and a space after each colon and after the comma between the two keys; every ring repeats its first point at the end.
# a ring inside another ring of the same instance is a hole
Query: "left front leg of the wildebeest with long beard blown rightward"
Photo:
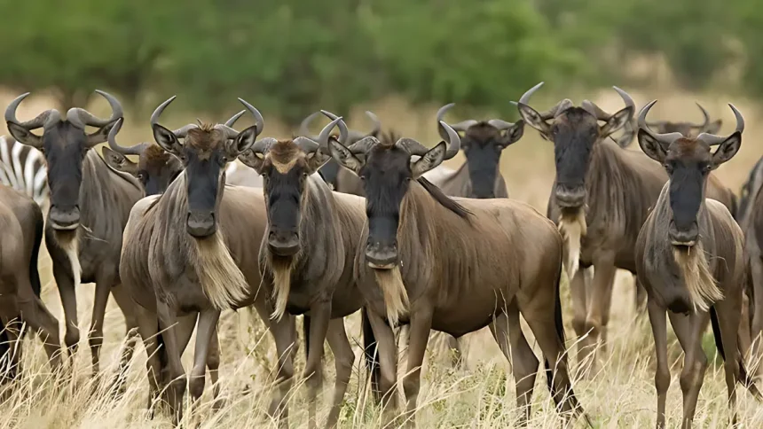
{"type": "Polygon", "coordinates": [[[161,338],[164,340],[164,347],[167,347],[169,379],[171,380],[167,386],[167,394],[169,407],[172,409],[174,422],[177,425],[183,417],[183,394],[185,394],[185,370],[180,361],[181,350],[177,346],[177,335],[174,331],[177,316],[174,309],[169,308],[169,305],[161,300],[156,301],[156,313],[159,316],[161,338]]]}

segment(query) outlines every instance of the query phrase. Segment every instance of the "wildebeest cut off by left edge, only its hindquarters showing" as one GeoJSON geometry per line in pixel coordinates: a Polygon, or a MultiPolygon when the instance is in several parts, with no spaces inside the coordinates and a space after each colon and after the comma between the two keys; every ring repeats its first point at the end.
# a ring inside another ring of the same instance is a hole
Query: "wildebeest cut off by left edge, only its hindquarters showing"
{"type": "Polygon", "coordinates": [[[32,199],[0,184],[0,377],[14,378],[20,360],[20,332],[12,322],[39,332],[54,369],[59,367],[59,321],[40,300],[37,254],[43,242],[43,212],[32,199]],[[7,354],[11,355],[7,355],[7,354]]]}

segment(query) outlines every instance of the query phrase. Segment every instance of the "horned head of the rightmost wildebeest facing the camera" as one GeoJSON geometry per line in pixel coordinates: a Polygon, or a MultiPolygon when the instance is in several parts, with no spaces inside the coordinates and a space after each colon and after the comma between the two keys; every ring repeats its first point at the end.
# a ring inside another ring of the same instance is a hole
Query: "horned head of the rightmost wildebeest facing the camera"
{"type": "Polygon", "coordinates": [[[646,126],[646,114],[655,101],[646,105],[639,115],[639,144],[653,160],[665,167],[670,176],[670,207],[672,218],[668,234],[673,246],[694,246],[699,236],[697,214],[704,202],[707,176],[720,164],[734,157],[742,144],[744,122],[737,116],[737,130],[728,137],[701,134],[688,138],[680,133],[655,134],[646,126]],[[711,146],[717,145],[715,152],[711,146]]]}

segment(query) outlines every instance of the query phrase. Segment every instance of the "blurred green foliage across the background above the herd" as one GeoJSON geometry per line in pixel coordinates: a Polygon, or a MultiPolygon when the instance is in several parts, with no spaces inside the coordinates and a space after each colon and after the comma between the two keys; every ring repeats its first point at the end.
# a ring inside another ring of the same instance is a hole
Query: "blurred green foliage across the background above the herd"
{"type": "Polygon", "coordinates": [[[0,85],[92,90],[140,108],[235,97],[299,121],[318,108],[402,94],[503,113],[539,81],[623,82],[624,58],[661,54],[702,90],[737,66],[763,95],[763,8],[752,0],[0,0],[0,85]]]}

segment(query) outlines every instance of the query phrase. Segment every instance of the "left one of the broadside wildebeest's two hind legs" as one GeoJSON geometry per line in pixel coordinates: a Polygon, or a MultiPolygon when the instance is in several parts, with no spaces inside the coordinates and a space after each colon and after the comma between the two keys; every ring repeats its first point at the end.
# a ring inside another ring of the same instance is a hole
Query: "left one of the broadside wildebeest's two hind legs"
{"type": "Polygon", "coordinates": [[[519,308],[513,300],[506,314],[500,314],[490,324],[493,338],[498,341],[501,352],[512,361],[516,385],[516,407],[522,413],[519,425],[527,425],[530,418],[530,401],[535,377],[538,375],[538,358],[532,352],[519,323],[519,308]],[[509,342],[510,341],[510,342],[509,342]]]}

